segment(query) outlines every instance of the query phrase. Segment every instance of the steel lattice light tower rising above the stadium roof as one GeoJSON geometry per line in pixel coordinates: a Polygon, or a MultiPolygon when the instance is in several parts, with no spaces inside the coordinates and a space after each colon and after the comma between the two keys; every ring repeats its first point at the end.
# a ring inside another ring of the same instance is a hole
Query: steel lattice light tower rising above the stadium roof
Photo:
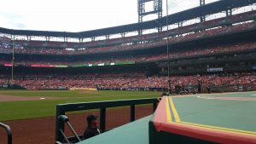
{"type": "MultiPolygon", "coordinates": [[[[157,14],[158,18],[162,17],[163,9],[162,9],[162,0],[137,0],[137,14],[138,14],[138,22],[143,22],[143,17],[149,14],[157,14]],[[153,2],[153,10],[146,11],[145,4],[153,2]]],[[[158,27],[158,31],[162,31],[162,26],[158,27]]],[[[139,35],[142,34],[142,31],[139,31],[139,35]]]]}

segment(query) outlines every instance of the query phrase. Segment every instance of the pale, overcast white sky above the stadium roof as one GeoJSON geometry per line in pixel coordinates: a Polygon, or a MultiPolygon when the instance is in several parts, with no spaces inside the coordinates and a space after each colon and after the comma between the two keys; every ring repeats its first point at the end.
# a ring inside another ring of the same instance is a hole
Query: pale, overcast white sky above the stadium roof
{"type": "MultiPolygon", "coordinates": [[[[206,0],[212,3],[217,0],[206,0]]],[[[137,0],[0,0],[0,27],[83,32],[137,22],[137,0]]],[[[166,0],[163,0],[166,15],[166,0]]],[[[199,0],[168,0],[169,14],[199,6],[199,0]]],[[[146,10],[152,7],[146,4],[146,10]]],[[[144,20],[155,19],[149,15],[144,20]]]]}

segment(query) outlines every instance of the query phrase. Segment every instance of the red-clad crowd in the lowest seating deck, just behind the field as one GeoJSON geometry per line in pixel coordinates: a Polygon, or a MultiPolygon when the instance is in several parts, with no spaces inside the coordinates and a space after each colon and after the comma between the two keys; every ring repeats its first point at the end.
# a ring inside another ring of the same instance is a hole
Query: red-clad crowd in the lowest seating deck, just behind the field
{"type": "MultiPolygon", "coordinates": [[[[26,89],[167,89],[167,77],[146,76],[143,72],[136,73],[105,73],[105,74],[81,74],[81,75],[18,75],[15,76],[15,84],[26,89]]],[[[256,74],[208,74],[190,76],[172,76],[172,89],[183,86],[189,92],[201,82],[204,89],[208,86],[220,86],[226,88],[256,88],[256,74]]],[[[6,75],[0,75],[0,84],[9,84],[6,75]]]]}

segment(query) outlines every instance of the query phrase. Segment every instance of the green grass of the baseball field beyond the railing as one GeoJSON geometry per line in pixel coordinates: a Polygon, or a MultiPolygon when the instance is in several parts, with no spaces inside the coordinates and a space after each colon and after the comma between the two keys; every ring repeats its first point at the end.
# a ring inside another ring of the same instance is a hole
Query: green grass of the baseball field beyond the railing
{"type": "Polygon", "coordinates": [[[0,95],[46,98],[46,100],[37,101],[0,102],[0,121],[8,121],[55,116],[56,104],[153,98],[160,96],[160,93],[139,91],[0,90],[0,95]],[[55,100],[47,100],[52,97],[55,100]]]}

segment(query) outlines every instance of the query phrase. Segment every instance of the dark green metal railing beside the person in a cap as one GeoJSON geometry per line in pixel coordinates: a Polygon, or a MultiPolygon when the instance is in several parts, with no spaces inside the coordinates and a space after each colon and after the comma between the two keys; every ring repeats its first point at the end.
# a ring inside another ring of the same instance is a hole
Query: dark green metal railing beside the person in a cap
{"type": "Polygon", "coordinates": [[[84,103],[69,103],[56,106],[56,125],[55,125],[55,141],[64,141],[61,131],[64,130],[64,123],[58,119],[59,116],[65,115],[66,112],[84,111],[92,109],[100,109],[100,128],[102,132],[106,130],[106,109],[110,107],[130,107],[130,122],[135,121],[135,111],[137,105],[153,104],[153,111],[157,107],[157,98],[137,99],[137,100],[122,100],[122,101],[98,101],[84,103]]]}

